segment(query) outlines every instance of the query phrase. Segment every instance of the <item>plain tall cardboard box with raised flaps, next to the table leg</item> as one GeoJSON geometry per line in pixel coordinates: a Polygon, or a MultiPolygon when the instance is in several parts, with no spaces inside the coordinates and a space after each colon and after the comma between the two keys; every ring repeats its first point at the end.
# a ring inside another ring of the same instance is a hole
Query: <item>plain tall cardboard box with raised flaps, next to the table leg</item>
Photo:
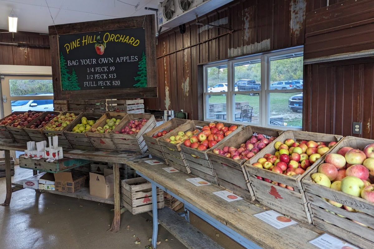
{"type": "Polygon", "coordinates": [[[113,170],[104,169],[104,175],[90,172],[90,194],[108,199],[114,195],[113,170]]]}

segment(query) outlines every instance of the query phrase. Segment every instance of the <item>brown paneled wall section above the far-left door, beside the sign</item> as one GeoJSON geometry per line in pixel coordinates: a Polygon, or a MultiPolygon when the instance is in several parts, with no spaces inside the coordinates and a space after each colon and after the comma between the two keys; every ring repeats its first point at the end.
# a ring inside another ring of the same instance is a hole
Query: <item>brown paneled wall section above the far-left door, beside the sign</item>
{"type": "Polygon", "coordinates": [[[0,32],[1,65],[51,65],[48,35],[31,32],[3,33],[7,32],[6,30],[0,30],[0,32]],[[18,45],[1,43],[16,43],[18,45]]]}

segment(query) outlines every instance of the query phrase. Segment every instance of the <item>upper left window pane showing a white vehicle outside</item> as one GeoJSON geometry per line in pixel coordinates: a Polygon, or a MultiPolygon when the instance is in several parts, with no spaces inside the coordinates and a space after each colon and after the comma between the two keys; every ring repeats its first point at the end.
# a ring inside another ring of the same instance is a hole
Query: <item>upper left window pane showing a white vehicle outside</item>
{"type": "Polygon", "coordinates": [[[227,65],[206,68],[208,93],[227,92],[227,65]]]}

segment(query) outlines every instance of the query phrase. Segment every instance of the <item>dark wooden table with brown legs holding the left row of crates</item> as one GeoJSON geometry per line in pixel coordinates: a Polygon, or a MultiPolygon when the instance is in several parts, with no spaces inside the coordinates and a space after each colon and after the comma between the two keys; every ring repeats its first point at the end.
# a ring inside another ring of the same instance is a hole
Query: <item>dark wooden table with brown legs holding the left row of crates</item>
{"type": "MultiPolygon", "coordinates": [[[[18,144],[18,143],[4,143],[0,142],[0,150],[4,150],[5,153],[5,171],[6,171],[6,197],[3,204],[1,206],[8,206],[10,204],[10,199],[12,198],[12,192],[18,191],[23,189],[21,183],[15,183],[15,187],[12,187],[12,177],[10,175],[10,150],[17,150],[17,151],[24,151],[26,149],[25,144],[18,144]]],[[[112,162],[113,163],[113,174],[114,174],[114,218],[110,228],[110,231],[118,232],[120,227],[120,203],[121,203],[121,196],[119,194],[120,190],[120,178],[119,178],[119,166],[118,164],[127,164],[131,160],[139,159],[148,154],[143,155],[133,155],[133,156],[119,156],[120,153],[110,152],[105,155],[97,155],[94,154],[97,151],[86,151],[83,153],[71,153],[73,149],[64,149],[64,157],[65,158],[78,158],[78,159],[87,159],[91,161],[100,161],[100,162],[112,162]]],[[[129,153],[125,153],[129,154],[129,153]]],[[[81,199],[89,199],[90,196],[86,192],[82,193],[62,193],[56,191],[44,191],[49,193],[56,193],[62,195],[68,195],[72,197],[78,197],[81,199]]],[[[99,198],[91,198],[91,200],[98,200],[99,198]]],[[[110,200],[102,200],[101,202],[111,203],[110,200]]]]}

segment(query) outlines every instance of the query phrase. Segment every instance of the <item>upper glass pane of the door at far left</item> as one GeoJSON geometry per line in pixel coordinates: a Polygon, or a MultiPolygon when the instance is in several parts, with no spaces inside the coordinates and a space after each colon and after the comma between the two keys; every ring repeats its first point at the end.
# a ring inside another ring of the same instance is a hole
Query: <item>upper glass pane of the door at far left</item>
{"type": "Polygon", "coordinates": [[[52,80],[9,80],[10,96],[53,95],[52,80]]]}

